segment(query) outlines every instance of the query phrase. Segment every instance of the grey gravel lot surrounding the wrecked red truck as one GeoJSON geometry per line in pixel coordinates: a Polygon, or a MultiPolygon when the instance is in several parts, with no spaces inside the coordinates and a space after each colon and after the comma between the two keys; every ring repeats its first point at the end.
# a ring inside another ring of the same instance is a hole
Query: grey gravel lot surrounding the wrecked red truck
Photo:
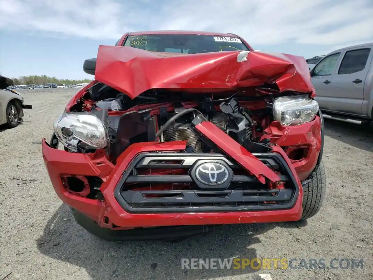
{"type": "MultiPolygon", "coordinates": [[[[51,186],[38,142],[77,91],[23,90],[24,123],[0,132],[0,279],[251,279],[245,270],[181,270],[181,258],[364,258],[354,270],[272,270],[272,279],[373,279],[373,127],[326,120],[326,200],[308,224],[226,226],[180,243],[97,239],[51,186]]],[[[39,142],[40,143],[40,142],[39,142]]],[[[338,265],[338,262],[336,262],[338,265]]],[[[297,265],[297,263],[294,263],[297,265]]]]}

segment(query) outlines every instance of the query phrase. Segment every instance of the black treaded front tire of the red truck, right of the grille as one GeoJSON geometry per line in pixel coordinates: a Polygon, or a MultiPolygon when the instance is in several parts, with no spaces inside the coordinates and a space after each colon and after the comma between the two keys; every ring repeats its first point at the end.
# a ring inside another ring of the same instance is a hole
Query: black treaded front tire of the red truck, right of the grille
{"type": "Polygon", "coordinates": [[[307,183],[303,184],[303,214],[301,220],[313,217],[323,204],[326,190],[326,176],[323,161],[307,183]]]}

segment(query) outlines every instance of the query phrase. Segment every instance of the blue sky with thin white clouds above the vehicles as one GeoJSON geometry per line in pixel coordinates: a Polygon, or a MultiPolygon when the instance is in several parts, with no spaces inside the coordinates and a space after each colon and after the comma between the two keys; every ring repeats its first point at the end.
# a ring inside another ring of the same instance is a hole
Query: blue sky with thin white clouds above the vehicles
{"type": "Polygon", "coordinates": [[[0,0],[0,73],[93,78],[85,59],[128,31],[235,33],[309,58],[373,41],[372,0],[0,0]]]}

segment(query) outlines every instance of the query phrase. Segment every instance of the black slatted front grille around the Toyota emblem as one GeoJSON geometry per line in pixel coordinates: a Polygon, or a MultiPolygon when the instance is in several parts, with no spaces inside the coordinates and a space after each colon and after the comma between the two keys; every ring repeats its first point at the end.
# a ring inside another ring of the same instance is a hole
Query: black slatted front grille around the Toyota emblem
{"type": "Polygon", "coordinates": [[[138,155],[115,189],[115,197],[128,212],[260,211],[291,208],[298,185],[289,167],[277,153],[253,154],[279,174],[285,188],[271,189],[260,183],[232,159],[221,154],[142,153],[138,155]],[[191,170],[201,161],[221,162],[231,168],[225,189],[204,189],[191,170]]]}

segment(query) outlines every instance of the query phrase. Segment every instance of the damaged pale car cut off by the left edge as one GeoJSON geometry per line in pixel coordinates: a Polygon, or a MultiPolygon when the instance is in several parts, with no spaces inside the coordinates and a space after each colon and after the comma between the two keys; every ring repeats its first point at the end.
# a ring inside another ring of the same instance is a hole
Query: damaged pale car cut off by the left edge
{"type": "Polygon", "coordinates": [[[0,125],[8,128],[18,126],[23,118],[23,109],[32,109],[31,105],[23,104],[23,96],[18,91],[9,89],[13,81],[0,76],[0,125]]]}

